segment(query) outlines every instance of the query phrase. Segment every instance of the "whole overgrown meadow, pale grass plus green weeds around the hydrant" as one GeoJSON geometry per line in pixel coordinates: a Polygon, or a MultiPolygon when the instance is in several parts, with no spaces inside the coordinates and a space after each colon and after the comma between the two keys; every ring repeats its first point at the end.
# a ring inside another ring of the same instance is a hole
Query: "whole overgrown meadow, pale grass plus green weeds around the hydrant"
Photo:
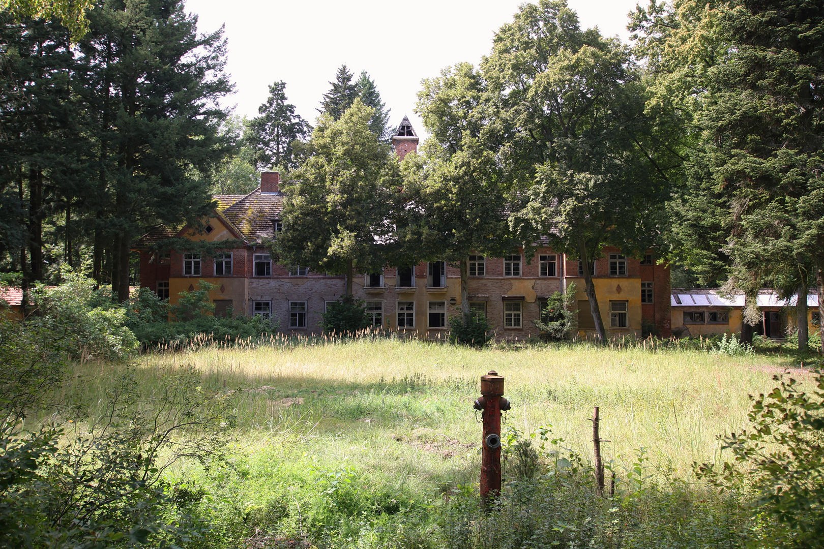
{"type": "MultiPolygon", "coordinates": [[[[769,392],[784,366],[643,344],[273,339],[150,352],[130,375],[152,394],[194,368],[226,398],[225,458],[166,471],[181,509],[208,526],[190,547],[743,547],[786,533],[748,512],[746,494],[708,490],[692,464],[729,459],[717,435],[747,428],[747,395],[769,392]],[[505,376],[513,409],[508,486],[484,514],[471,402],[488,370],[505,376]],[[612,498],[589,469],[593,406],[612,498]]],[[[67,389],[94,402],[122,368],[76,365],[67,389]]]]}

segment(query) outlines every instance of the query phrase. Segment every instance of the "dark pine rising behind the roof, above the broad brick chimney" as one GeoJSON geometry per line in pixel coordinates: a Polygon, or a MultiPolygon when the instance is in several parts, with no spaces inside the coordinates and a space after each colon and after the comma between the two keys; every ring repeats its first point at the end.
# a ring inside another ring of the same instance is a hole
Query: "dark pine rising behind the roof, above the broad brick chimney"
{"type": "Polygon", "coordinates": [[[277,81],[269,86],[269,97],[251,119],[244,141],[254,152],[258,170],[273,166],[291,170],[295,165],[293,142],[307,136],[309,124],[295,113],[295,105],[288,104],[286,82],[277,81]]]}

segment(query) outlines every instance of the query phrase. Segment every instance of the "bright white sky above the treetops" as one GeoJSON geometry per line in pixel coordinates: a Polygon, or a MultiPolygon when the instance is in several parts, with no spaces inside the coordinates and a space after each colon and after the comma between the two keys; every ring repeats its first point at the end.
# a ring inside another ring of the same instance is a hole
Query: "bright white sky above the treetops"
{"type": "MultiPolygon", "coordinates": [[[[638,0],[569,0],[581,26],[627,40],[627,13],[638,0]]],[[[406,114],[424,137],[414,114],[420,81],[461,61],[477,65],[492,48],[494,31],[522,0],[187,0],[199,30],[226,25],[227,72],[236,93],[227,105],[252,118],[269,95],[269,84],[286,82],[298,114],[311,123],[335,71],[346,63],[355,77],[366,70],[391,109],[396,126],[406,114]]],[[[646,0],[641,1],[646,5],[646,0]]]]}

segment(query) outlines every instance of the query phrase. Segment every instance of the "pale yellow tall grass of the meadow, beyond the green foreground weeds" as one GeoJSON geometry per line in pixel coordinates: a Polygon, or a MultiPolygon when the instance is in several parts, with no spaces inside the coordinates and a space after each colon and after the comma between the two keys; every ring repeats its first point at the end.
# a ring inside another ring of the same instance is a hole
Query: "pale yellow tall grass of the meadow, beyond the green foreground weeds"
{"type": "MultiPolygon", "coordinates": [[[[250,344],[250,347],[253,347],[250,344]]],[[[200,347],[140,358],[147,391],[170,369],[194,366],[204,384],[232,393],[241,444],[283,433],[351,440],[408,435],[428,428],[462,443],[480,438],[471,408],[478,378],[506,377],[513,410],[506,426],[530,431],[552,425],[556,436],[590,452],[592,407],[600,406],[606,458],[646,448],[653,462],[690,475],[693,461],[717,460],[716,435],[746,426],[747,394],[765,392],[781,368],[763,356],[705,351],[648,351],[596,345],[474,350],[439,342],[379,338],[274,340],[255,348],[200,347]]],[[[110,368],[103,365],[102,368],[110,368]]],[[[83,365],[94,378],[101,365],[83,365]]],[[[82,388],[96,390],[86,379],[82,388]]],[[[342,459],[371,459],[374,448],[337,444],[342,459]]]]}

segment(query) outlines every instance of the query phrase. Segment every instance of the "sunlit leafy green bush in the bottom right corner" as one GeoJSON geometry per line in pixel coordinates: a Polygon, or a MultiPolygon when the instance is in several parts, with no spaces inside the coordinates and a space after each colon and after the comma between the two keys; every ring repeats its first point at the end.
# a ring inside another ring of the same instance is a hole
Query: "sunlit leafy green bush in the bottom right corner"
{"type": "Polygon", "coordinates": [[[751,508],[789,528],[770,540],[777,547],[824,547],[824,375],[817,373],[810,391],[793,378],[773,379],[779,387],[750,397],[751,430],[723,438],[733,463],[693,467],[714,486],[755,491],[751,508]]]}

